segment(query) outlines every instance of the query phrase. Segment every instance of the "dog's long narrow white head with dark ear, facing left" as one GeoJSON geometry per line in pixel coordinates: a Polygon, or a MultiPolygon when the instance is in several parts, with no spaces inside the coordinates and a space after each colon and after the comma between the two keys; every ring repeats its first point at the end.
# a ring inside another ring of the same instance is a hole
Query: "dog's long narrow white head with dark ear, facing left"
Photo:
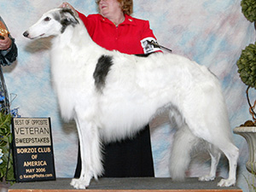
{"type": "Polygon", "coordinates": [[[51,9],[45,13],[33,26],[23,33],[26,38],[45,38],[59,35],[67,26],[75,26],[79,20],[71,9],[51,9]]]}

